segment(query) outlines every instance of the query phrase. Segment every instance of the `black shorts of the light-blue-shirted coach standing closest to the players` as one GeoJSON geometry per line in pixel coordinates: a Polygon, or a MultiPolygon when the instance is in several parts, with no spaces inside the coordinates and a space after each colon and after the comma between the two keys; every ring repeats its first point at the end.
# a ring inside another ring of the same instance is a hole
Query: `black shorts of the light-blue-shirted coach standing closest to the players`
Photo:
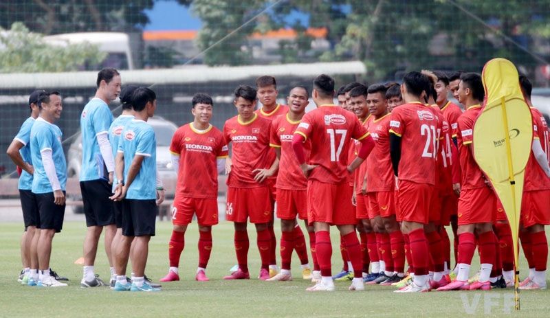
{"type": "Polygon", "coordinates": [[[155,236],[155,200],[122,200],[122,235],[155,236]]]}

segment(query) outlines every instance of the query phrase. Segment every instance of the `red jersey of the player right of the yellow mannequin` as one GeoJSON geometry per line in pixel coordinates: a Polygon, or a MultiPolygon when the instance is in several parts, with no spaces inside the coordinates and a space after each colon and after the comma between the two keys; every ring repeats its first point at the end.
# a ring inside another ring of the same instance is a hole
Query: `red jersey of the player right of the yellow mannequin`
{"type": "MultiPolygon", "coordinates": [[[[542,150],[546,153],[548,162],[550,153],[548,149],[549,132],[547,122],[540,111],[533,107],[531,107],[531,116],[533,117],[533,139],[540,140],[540,146],[542,146],[542,150]]],[[[537,159],[535,159],[535,155],[533,155],[533,151],[531,150],[529,161],[527,161],[527,166],[525,167],[523,191],[548,189],[550,189],[550,179],[538,165],[537,159]]]]}

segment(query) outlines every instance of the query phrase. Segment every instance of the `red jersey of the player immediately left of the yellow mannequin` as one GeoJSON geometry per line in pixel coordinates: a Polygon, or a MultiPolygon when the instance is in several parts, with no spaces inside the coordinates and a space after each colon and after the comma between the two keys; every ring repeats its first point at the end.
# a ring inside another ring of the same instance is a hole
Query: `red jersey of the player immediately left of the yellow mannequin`
{"type": "Polygon", "coordinates": [[[486,187],[485,177],[481,168],[474,160],[474,155],[467,145],[472,144],[474,136],[474,122],[481,111],[480,105],[470,106],[459,117],[459,130],[456,133],[456,141],[459,144],[459,161],[462,173],[461,188],[462,189],[477,189],[486,187]]]}

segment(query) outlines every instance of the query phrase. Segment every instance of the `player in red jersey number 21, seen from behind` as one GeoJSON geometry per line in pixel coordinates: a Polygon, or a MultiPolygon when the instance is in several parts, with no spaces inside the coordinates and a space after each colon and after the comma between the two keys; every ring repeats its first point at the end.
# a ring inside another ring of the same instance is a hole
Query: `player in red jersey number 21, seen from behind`
{"type": "Polygon", "coordinates": [[[412,71],[401,84],[406,104],[393,110],[390,121],[390,153],[397,180],[401,231],[409,242],[414,281],[396,292],[430,291],[428,283],[428,242],[424,225],[428,223],[429,204],[434,191],[437,127],[439,120],[423,104],[428,77],[412,71]],[[421,102],[422,101],[422,102],[421,102]]]}

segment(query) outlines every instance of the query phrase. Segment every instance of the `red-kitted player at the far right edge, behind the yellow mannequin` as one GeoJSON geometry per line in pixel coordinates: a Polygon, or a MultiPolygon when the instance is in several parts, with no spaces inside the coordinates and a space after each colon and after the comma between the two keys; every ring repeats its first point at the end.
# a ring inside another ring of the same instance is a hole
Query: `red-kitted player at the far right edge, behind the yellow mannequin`
{"type": "Polygon", "coordinates": [[[533,146],[525,168],[520,218],[521,247],[529,264],[529,276],[520,283],[520,289],[545,289],[548,242],[544,225],[550,225],[550,212],[544,204],[550,197],[549,131],[546,120],[531,103],[531,82],[520,76],[520,85],[533,116],[533,146]]]}

